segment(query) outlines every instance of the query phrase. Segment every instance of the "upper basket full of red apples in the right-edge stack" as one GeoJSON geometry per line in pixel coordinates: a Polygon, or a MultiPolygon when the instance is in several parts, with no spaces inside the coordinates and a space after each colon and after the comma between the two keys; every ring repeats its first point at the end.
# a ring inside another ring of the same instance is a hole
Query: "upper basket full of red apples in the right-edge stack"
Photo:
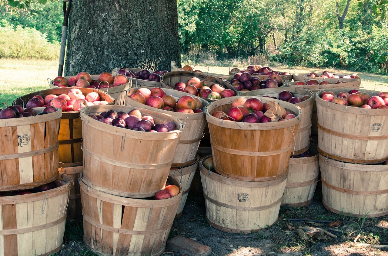
{"type": "Polygon", "coordinates": [[[315,101],[321,154],[357,164],[374,164],[388,157],[387,92],[321,90],[315,101]]]}

